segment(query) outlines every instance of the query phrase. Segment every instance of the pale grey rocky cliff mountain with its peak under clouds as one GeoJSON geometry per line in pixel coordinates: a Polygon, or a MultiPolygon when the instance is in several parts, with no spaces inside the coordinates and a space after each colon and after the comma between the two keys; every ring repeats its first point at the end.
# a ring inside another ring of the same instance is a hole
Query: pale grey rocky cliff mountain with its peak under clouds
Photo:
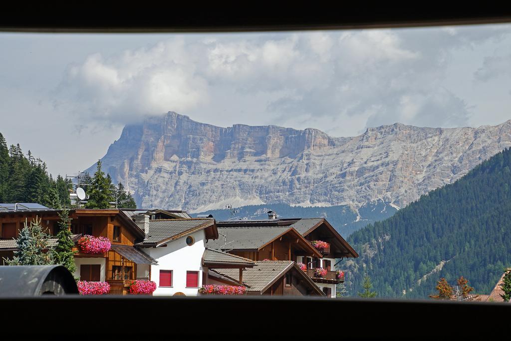
{"type": "Polygon", "coordinates": [[[335,138],[312,128],[223,128],[168,112],[126,126],[102,163],[139,207],[200,212],[286,203],[356,211],[377,200],[404,207],[506,147],[511,120],[479,128],[396,123],[335,138]]]}

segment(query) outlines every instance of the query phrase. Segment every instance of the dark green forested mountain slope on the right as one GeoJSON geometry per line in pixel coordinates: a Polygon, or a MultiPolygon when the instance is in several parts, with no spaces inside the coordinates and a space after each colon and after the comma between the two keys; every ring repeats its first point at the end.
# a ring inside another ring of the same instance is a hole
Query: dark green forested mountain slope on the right
{"type": "Polygon", "coordinates": [[[489,293],[511,265],[511,150],[436,189],[392,217],[353,233],[360,254],[344,260],[347,289],[362,291],[365,272],[382,297],[427,298],[436,281],[463,276],[489,293]]]}

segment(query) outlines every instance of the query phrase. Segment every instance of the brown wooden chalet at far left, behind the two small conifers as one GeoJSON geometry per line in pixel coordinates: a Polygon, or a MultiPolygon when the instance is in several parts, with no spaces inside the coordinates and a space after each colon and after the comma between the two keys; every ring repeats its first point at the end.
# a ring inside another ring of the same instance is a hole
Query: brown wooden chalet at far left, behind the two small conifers
{"type": "MultiPolygon", "coordinates": [[[[49,246],[56,244],[59,210],[53,210],[38,204],[2,204],[12,209],[0,210],[0,256],[12,258],[16,251],[19,230],[26,220],[36,217],[51,238],[49,246]]],[[[104,237],[111,246],[101,253],[85,253],[76,245],[73,249],[77,266],[74,276],[82,281],[108,282],[110,293],[126,294],[132,280],[148,278],[146,269],[156,261],[134,247],[145,237],[144,230],[119,209],[91,210],[74,209],[69,211],[72,218],[73,240],[79,241],[83,235],[104,237]],[[140,267],[140,268],[139,268],[140,267]]]]}

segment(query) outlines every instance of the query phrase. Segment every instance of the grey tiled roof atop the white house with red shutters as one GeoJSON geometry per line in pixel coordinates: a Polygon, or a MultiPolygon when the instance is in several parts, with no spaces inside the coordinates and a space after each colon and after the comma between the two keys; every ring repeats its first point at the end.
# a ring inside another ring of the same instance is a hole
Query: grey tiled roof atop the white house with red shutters
{"type": "Polygon", "coordinates": [[[149,220],[149,233],[146,239],[140,244],[155,244],[212,221],[214,221],[214,219],[149,220]]]}

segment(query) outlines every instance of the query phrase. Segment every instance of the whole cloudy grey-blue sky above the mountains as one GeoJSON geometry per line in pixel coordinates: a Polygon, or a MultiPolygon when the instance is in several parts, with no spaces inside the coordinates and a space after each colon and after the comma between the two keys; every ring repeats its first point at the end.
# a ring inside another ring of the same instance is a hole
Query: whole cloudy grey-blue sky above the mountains
{"type": "Polygon", "coordinates": [[[231,126],[496,125],[511,25],[243,34],[0,33],[0,132],[75,174],[125,124],[176,111],[231,126]]]}

